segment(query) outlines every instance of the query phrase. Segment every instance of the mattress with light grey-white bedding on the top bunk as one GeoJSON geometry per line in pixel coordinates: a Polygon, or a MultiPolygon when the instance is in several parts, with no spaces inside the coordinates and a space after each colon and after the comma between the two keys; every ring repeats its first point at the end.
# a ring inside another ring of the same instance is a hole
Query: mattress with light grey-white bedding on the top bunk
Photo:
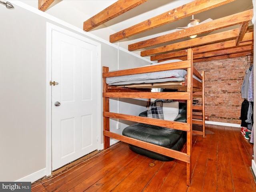
{"type": "MultiPolygon", "coordinates": [[[[174,59],[174,60],[168,60],[168,61],[159,62],[156,64],[151,64],[146,66],[166,64],[166,63],[179,62],[179,61],[182,61],[182,60],[174,59]]],[[[142,66],[140,68],[143,68],[143,67],[145,66],[142,66]]],[[[160,82],[171,82],[171,81],[182,82],[185,80],[184,77],[186,74],[187,74],[187,71],[183,69],[166,70],[166,71],[149,72],[149,73],[143,73],[143,74],[132,74],[132,75],[108,77],[106,78],[106,83],[108,85],[128,85],[128,84],[160,83],[160,82]]],[[[194,76],[194,78],[196,77],[194,76]]]]}

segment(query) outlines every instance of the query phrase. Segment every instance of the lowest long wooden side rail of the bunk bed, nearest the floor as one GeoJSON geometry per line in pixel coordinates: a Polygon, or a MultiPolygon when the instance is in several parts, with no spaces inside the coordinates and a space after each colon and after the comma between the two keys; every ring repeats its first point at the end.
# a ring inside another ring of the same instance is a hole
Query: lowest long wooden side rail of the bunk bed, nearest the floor
{"type": "Polygon", "coordinates": [[[187,163],[190,162],[190,157],[187,154],[182,153],[180,151],[172,150],[172,149],[169,149],[169,148],[154,145],[154,144],[151,144],[151,143],[148,143],[148,142],[144,142],[144,141],[141,141],[141,140],[137,140],[137,139],[134,139],[134,138],[126,137],[126,136],[116,134],[116,133],[112,133],[112,132],[108,132],[108,131],[103,131],[103,134],[104,134],[104,136],[108,136],[110,138],[115,138],[117,140],[129,143],[129,144],[132,144],[132,145],[135,145],[135,146],[138,146],[138,147],[141,147],[141,148],[144,148],[144,149],[147,149],[147,150],[159,153],[159,154],[163,154],[163,155],[168,156],[168,157],[174,157],[175,156],[175,159],[177,159],[177,160],[181,160],[181,161],[184,161],[184,162],[187,162],[187,163]]]}

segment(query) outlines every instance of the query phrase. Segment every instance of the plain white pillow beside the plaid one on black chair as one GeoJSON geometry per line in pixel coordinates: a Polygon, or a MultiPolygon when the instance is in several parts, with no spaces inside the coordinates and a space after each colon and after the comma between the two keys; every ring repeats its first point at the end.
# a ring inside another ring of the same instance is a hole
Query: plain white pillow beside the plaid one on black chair
{"type": "Polygon", "coordinates": [[[164,120],[173,121],[179,114],[179,102],[162,102],[164,120]]]}

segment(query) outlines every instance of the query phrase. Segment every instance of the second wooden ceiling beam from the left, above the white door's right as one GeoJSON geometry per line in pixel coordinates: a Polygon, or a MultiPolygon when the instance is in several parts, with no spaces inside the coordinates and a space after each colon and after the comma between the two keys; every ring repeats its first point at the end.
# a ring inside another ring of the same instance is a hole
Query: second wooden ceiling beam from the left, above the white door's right
{"type": "Polygon", "coordinates": [[[84,31],[90,31],[101,24],[143,4],[148,0],[118,0],[106,9],[84,22],[84,31]]]}

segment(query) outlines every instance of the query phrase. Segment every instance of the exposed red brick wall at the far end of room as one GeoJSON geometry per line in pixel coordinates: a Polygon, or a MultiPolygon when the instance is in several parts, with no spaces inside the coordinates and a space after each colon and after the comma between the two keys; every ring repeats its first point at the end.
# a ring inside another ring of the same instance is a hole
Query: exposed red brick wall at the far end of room
{"type": "Polygon", "coordinates": [[[240,90],[250,67],[247,57],[198,62],[194,66],[199,72],[205,71],[205,114],[209,120],[241,124],[240,90]]]}

